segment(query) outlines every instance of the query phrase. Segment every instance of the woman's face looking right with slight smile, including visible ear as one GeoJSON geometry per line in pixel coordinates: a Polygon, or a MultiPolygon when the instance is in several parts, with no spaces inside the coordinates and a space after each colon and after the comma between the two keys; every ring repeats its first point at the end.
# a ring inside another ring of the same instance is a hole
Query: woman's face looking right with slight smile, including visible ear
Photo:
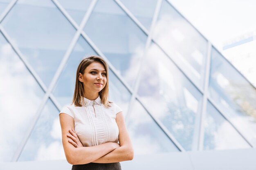
{"type": "Polygon", "coordinates": [[[79,73],[79,81],[83,82],[85,92],[99,93],[107,83],[107,73],[101,63],[91,63],[84,74],[79,73]]]}

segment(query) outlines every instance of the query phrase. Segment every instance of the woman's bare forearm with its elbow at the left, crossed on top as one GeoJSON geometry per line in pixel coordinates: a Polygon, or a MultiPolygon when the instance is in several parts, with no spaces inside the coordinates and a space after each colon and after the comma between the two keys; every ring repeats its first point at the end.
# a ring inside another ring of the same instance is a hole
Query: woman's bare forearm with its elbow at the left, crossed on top
{"type": "Polygon", "coordinates": [[[117,147],[119,147],[118,144],[107,142],[97,146],[74,148],[72,153],[66,156],[68,162],[72,165],[86,164],[103,157],[117,147]]]}

